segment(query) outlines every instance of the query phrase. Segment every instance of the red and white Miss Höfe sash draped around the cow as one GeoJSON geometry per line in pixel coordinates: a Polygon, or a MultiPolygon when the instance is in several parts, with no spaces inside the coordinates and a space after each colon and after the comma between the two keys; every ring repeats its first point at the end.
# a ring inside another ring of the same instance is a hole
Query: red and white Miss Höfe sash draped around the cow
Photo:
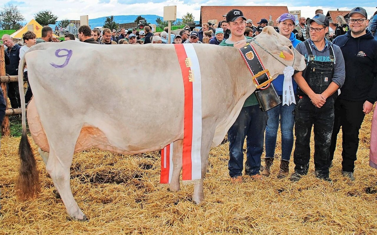
{"type": "MultiPolygon", "coordinates": [[[[182,180],[201,179],[202,84],[198,56],[193,44],[174,44],[184,85],[184,134],[182,180]]],[[[172,178],[173,144],[161,150],[160,183],[172,178]]]]}

